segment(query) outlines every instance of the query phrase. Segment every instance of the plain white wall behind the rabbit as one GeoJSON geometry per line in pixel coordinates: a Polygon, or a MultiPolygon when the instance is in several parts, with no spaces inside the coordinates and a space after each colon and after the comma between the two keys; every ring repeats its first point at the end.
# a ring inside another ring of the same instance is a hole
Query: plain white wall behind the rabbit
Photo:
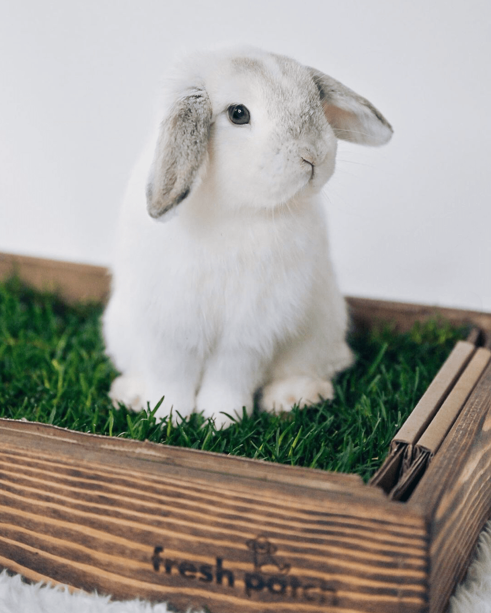
{"type": "Polygon", "coordinates": [[[0,251],[107,264],[160,75],[241,41],[394,126],[326,188],[343,291],[491,311],[490,23],[489,0],[0,0],[0,251]]]}

